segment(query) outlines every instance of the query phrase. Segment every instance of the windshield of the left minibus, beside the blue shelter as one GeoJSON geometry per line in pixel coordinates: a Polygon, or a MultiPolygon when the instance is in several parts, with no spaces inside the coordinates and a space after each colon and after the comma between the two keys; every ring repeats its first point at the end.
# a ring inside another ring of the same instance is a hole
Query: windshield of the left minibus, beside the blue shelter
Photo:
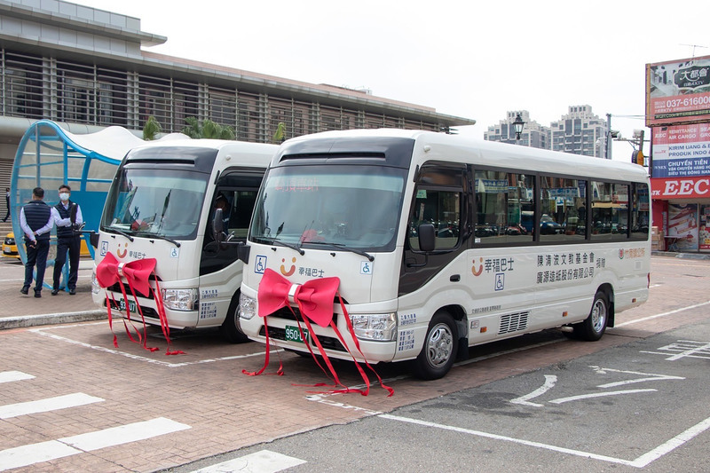
{"type": "Polygon", "coordinates": [[[193,240],[209,175],[174,169],[119,170],[101,230],[193,240]]]}

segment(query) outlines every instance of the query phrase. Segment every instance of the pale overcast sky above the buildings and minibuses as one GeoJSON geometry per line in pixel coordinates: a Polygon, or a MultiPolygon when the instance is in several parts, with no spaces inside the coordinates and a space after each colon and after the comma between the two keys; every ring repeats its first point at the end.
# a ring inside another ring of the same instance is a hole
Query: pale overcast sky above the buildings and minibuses
{"type": "MultiPolygon", "coordinates": [[[[707,1],[73,1],[167,36],[148,51],[365,88],[472,118],[460,132],[476,138],[509,110],[548,126],[572,105],[611,114],[631,138],[643,128],[645,64],[710,55],[707,1]]],[[[614,159],[632,151],[614,143],[614,159]]]]}

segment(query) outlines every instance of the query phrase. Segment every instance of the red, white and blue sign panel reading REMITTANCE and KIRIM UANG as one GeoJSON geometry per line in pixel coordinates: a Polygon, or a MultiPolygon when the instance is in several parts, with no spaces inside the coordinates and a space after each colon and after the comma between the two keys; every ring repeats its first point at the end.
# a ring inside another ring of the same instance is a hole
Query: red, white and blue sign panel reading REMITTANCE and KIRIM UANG
{"type": "Polygon", "coordinates": [[[651,130],[652,177],[710,176],[710,122],[651,130]]]}

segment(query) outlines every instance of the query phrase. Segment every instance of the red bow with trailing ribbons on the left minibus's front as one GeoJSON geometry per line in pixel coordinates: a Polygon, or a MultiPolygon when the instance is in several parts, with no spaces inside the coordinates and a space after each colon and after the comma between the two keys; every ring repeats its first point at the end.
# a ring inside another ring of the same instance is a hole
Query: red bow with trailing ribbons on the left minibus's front
{"type": "MultiPolygon", "coordinates": [[[[126,303],[126,315],[130,321],[130,304],[126,290],[123,287],[122,277],[128,282],[128,287],[130,288],[130,293],[133,295],[133,299],[136,301],[136,309],[143,320],[143,335],[140,335],[138,330],[138,342],[143,341],[143,348],[149,351],[156,351],[157,348],[148,348],[146,346],[146,319],[143,317],[143,310],[138,304],[138,297],[136,296],[136,291],[141,295],[148,297],[151,292],[153,292],[153,297],[155,301],[155,306],[158,312],[158,319],[161,321],[162,334],[165,336],[165,340],[168,343],[168,349],[166,350],[166,355],[177,355],[182,354],[184,351],[170,351],[170,327],[168,326],[168,318],[165,315],[165,307],[162,305],[162,298],[160,296],[160,288],[158,287],[158,280],[155,278],[155,286],[158,290],[155,290],[150,285],[150,276],[154,274],[155,264],[157,261],[155,258],[144,258],[137,259],[134,261],[129,261],[127,263],[119,262],[113,254],[108,253],[104,256],[96,266],[96,280],[99,282],[101,288],[108,288],[118,283],[121,288],[123,295],[123,300],[126,303]]],[[[112,296],[113,298],[113,296],[112,296]]],[[[115,304],[115,301],[114,301],[115,304]]],[[[106,308],[108,309],[108,325],[111,327],[113,332],[113,323],[111,319],[111,304],[108,301],[108,293],[106,292],[106,308]]],[[[131,341],[136,342],[136,340],[130,335],[130,330],[128,325],[126,325],[125,319],[123,320],[123,326],[126,327],[126,333],[128,334],[131,341]]],[[[135,327],[134,327],[135,330],[135,327]]],[[[114,334],[114,347],[118,348],[118,342],[116,340],[116,335],[114,334]]]]}

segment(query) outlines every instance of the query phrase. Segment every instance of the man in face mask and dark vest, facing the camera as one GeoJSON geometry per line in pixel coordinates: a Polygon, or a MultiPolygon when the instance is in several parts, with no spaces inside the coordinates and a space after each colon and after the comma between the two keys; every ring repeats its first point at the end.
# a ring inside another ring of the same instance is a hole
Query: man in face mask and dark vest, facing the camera
{"type": "Polygon", "coordinates": [[[72,296],[76,294],[76,280],[79,276],[79,252],[82,248],[82,237],[79,229],[83,224],[82,209],[79,204],[70,201],[71,188],[59,185],[59,203],[51,208],[51,217],[57,225],[57,258],[54,260],[54,284],[51,295],[59,294],[61,271],[67,261],[69,252],[69,279],[67,288],[72,296]]]}

